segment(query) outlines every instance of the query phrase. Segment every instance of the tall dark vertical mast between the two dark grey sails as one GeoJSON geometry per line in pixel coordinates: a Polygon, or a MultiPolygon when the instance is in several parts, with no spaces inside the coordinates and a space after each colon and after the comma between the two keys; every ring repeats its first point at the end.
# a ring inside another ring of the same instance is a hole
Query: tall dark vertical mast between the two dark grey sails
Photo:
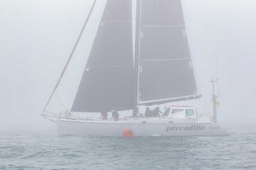
{"type": "Polygon", "coordinates": [[[132,117],[138,113],[138,92],[139,92],[139,59],[140,59],[140,5],[141,0],[137,0],[136,4],[136,28],[135,28],[135,52],[134,52],[134,70],[135,70],[135,93],[134,107],[132,117]]]}

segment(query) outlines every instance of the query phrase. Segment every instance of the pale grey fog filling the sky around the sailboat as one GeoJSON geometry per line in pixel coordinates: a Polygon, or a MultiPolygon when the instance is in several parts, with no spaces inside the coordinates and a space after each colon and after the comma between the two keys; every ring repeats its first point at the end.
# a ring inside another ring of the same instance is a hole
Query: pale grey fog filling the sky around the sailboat
{"type": "MultiPolygon", "coordinates": [[[[60,76],[92,2],[0,1],[1,129],[56,128],[39,114],[60,76]]],[[[73,92],[83,73],[105,3],[105,0],[96,3],[63,77],[63,85],[73,92]]],[[[254,122],[256,2],[183,0],[182,3],[190,52],[204,97],[201,100],[205,99],[207,104],[211,100],[212,86],[208,81],[213,74],[216,76],[217,56],[218,122],[254,122]]],[[[70,108],[74,95],[62,93],[61,88],[58,94],[70,108]]],[[[198,100],[171,104],[197,103],[198,100]]],[[[56,97],[49,107],[64,111],[56,97]]],[[[211,109],[209,107],[210,112],[211,109]]]]}

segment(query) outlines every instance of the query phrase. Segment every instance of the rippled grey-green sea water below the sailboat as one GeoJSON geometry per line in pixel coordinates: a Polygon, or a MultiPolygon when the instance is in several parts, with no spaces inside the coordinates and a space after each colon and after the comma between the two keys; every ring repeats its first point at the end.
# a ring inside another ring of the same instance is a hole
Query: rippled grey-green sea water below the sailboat
{"type": "Polygon", "coordinates": [[[256,124],[231,136],[62,136],[56,129],[0,131],[0,169],[256,169],[256,124]]]}

